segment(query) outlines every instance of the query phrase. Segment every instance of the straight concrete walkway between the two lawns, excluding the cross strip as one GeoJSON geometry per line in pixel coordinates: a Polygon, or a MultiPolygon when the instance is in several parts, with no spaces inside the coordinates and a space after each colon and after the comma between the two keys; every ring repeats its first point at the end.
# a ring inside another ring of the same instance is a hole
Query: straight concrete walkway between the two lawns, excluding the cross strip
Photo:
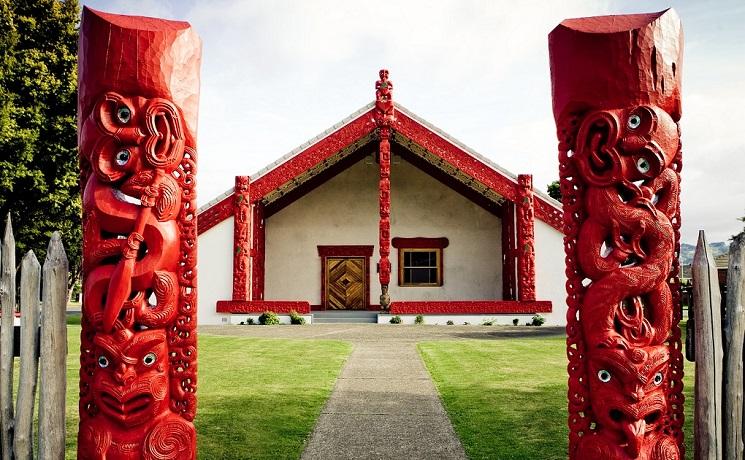
{"type": "Polygon", "coordinates": [[[413,343],[357,343],[303,460],[465,459],[413,343]]]}

